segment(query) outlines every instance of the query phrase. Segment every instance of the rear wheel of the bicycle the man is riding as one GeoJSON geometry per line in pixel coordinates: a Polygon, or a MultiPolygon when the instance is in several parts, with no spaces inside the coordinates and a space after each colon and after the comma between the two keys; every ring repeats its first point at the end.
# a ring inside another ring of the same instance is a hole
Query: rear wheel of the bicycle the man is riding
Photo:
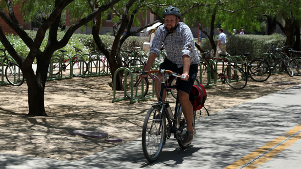
{"type": "MultiPolygon", "coordinates": [[[[192,127],[195,127],[195,117],[196,117],[196,111],[193,111],[193,119],[192,119],[192,127]]],[[[185,133],[187,131],[187,122],[185,120],[183,111],[182,111],[182,106],[179,104],[178,106],[178,117],[177,117],[177,140],[178,144],[182,149],[186,149],[189,145],[184,146],[182,141],[184,140],[185,133]]]]}

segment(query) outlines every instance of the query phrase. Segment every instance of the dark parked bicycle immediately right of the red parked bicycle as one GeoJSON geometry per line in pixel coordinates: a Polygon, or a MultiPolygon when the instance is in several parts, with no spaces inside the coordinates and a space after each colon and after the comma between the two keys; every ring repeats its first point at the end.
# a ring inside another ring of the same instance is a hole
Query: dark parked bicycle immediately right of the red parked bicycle
{"type": "MultiPolygon", "coordinates": [[[[248,56],[250,53],[243,54],[241,56],[248,56]]],[[[251,62],[240,63],[244,69],[247,77],[250,77],[254,81],[263,82],[266,81],[271,75],[271,69],[269,64],[261,58],[255,58],[251,62]]]]}

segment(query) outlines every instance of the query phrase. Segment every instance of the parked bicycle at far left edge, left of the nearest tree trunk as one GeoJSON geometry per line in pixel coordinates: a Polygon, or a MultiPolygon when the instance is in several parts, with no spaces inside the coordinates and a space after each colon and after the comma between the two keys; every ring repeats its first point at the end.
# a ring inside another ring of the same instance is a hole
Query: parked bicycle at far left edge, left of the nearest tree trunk
{"type": "Polygon", "coordinates": [[[17,63],[14,63],[7,55],[6,49],[0,49],[4,55],[0,57],[4,57],[2,62],[0,61],[0,74],[2,74],[4,68],[4,75],[9,84],[13,86],[21,86],[24,83],[23,72],[20,69],[20,66],[17,63]],[[2,64],[3,63],[3,64],[2,64]]]}

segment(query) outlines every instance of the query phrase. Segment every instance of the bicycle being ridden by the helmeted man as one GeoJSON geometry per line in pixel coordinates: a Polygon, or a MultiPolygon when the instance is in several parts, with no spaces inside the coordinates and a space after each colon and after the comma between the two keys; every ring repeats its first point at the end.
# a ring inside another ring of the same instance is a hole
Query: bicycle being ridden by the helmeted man
{"type": "MultiPolygon", "coordinates": [[[[143,128],[142,128],[142,149],[145,158],[149,162],[156,161],[162,151],[163,145],[165,144],[166,138],[170,139],[171,134],[174,134],[174,138],[177,139],[179,146],[182,149],[186,149],[189,145],[184,146],[182,141],[184,139],[185,133],[187,131],[187,122],[184,118],[181,102],[179,97],[176,99],[175,112],[172,113],[171,108],[168,103],[164,103],[162,100],[164,89],[169,89],[168,83],[165,82],[166,78],[170,76],[181,77],[169,70],[151,70],[146,72],[141,72],[139,75],[161,73],[161,91],[159,102],[154,103],[152,107],[146,113],[143,128]],[[167,120],[167,124],[166,124],[167,120]]],[[[196,112],[193,112],[192,126],[195,126],[195,116],[196,112]]]]}

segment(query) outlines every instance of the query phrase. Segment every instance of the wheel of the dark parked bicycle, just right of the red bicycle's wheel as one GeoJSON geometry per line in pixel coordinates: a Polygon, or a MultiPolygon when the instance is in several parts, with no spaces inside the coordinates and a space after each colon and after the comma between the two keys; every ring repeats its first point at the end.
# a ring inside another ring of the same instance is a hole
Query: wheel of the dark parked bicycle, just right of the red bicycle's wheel
{"type": "Polygon", "coordinates": [[[267,80],[271,75],[271,69],[269,64],[260,58],[256,58],[251,61],[248,67],[248,71],[250,77],[254,81],[258,81],[258,82],[263,82],[267,80]]]}

